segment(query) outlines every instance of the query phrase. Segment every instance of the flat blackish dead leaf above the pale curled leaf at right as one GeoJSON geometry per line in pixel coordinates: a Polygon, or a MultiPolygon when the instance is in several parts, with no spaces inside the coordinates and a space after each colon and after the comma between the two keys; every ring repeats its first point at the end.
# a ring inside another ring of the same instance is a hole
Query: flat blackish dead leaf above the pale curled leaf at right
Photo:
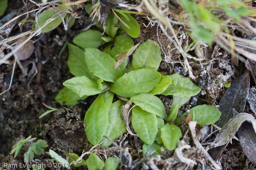
{"type": "Polygon", "coordinates": [[[219,102],[221,117],[217,121],[218,127],[222,128],[234,116],[233,108],[239,113],[244,111],[249,86],[250,76],[248,72],[245,72],[227,89],[219,102]]]}

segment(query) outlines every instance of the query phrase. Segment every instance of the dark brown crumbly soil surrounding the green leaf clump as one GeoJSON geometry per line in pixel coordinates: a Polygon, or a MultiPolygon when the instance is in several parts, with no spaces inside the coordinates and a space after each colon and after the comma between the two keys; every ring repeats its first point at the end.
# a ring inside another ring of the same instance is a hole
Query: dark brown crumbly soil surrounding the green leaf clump
{"type": "MultiPolygon", "coordinates": [[[[10,1],[10,3],[14,3],[14,0],[10,1]]],[[[22,6],[22,1],[18,1],[18,4],[22,6]]],[[[17,9],[15,5],[11,5],[10,7],[12,7],[12,9],[8,8],[7,13],[17,9]]],[[[79,30],[88,26],[90,23],[91,21],[88,19],[88,15],[84,14],[80,19],[76,20],[74,26],[68,31],[64,31],[63,26],[60,25],[49,33],[35,37],[33,40],[36,40],[37,38],[38,40],[34,43],[34,53],[30,58],[21,61],[22,65],[29,72],[27,76],[24,76],[19,66],[16,65],[11,89],[0,96],[0,170],[3,169],[4,163],[16,164],[23,162],[24,152],[21,151],[15,159],[13,158],[13,155],[9,154],[15,138],[27,138],[32,135],[33,138],[44,139],[49,145],[46,150],[52,149],[64,158],[65,154],[68,152],[81,155],[83,151],[89,151],[91,147],[93,147],[87,141],[83,119],[85,112],[94,101],[95,96],[91,96],[85,100],[87,105],[78,104],[72,107],[61,106],[54,100],[57,92],[63,88],[62,83],[72,77],[67,66],[68,50],[65,49],[60,57],[58,57],[61,47],[67,41],[72,42],[72,38],[78,34],[79,30]],[[38,71],[35,77],[33,77],[35,73],[33,65],[38,71]],[[44,107],[42,103],[58,108],[59,111],[51,112],[42,119],[39,119],[38,117],[42,113],[49,110],[44,107]]],[[[166,48],[163,51],[166,52],[170,42],[162,33],[161,29],[157,28],[157,25],[153,27],[145,27],[141,24],[144,23],[148,25],[148,21],[144,18],[140,18],[139,23],[141,27],[141,35],[139,38],[135,39],[135,43],[140,42],[140,40],[146,41],[147,39],[154,41],[159,40],[162,47],[166,48]]],[[[25,26],[23,26],[25,27],[23,28],[24,30],[31,28],[31,24],[26,24],[25,26]]],[[[96,27],[92,28],[97,29],[96,27]]],[[[176,27],[176,29],[182,30],[181,27],[176,27]]],[[[20,28],[16,25],[12,29],[11,34],[15,35],[18,33],[20,33],[20,28]]],[[[177,36],[180,37],[182,34],[184,34],[184,31],[178,32],[177,36]]],[[[189,38],[183,39],[182,47],[186,46],[186,43],[189,42],[191,42],[189,38]]],[[[213,47],[208,47],[208,53],[212,53],[213,47]]],[[[171,48],[173,48],[172,45],[171,48]]],[[[5,54],[8,52],[10,51],[4,51],[5,54]]],[[[195,99],[196,103],[198,101],[202,104],[217,105],[225,92],[225,88],[216,85],[215,81],[220,80],[223,75],[225,75],[226,80],[223,80],[223,82],[227,80],[233,82],[241,73],[245,72],[244,65],[232,65],[229,55],[226,55],[226,52],[222,49],[219,50],[219,52],[222,53],[222,55],[218,56],[218,59],[214,61],[212,68],[207,70],[207,72],[203,69],[199,69],[201,67],[200,63],[192,63],[192,68],[195,70],[193,72],[196,77],[195,84],[199,85],[203,90],[203,93],[199,96],[198,100],[195,99]],[[197,68],[198,65],[200,65],[199,68],[197,68]]],[[[188,73],[184,72],[184,68],[180,63],[168,63],[166,61],[170,60],[166,59],[166,55],[162,53],[162,56],[163,61],[159,67],[159,72],[166,72],[167,74],[180,73],[183,76],[188,77],[188,73]]],[[[178,60],[180,54],[177,50],[173,50],[170,56],[172,60],[178,60]]],[[[10,85],[14,59],[11,58],[9,61],[10,64],[3,64],[0,66],[0,92],[8,89],[10,85]]],[[[189,60],[189,62],[192,61],[193,60],[189,60]]],[[[166,111],[168,112],[172,104],[172,97],[163,95],[159,95],[158,97],[163,101],[166,111]]],[[[191,107],[193,107],[192,104],[188,102],[182,106],[179,113],[184,113],[191,107]]],[[[246,106],[246,111],[250,112],[248,106],[246,106]]],[[[184,123],[179,124],[179,126],[182,128],[182,135],[185,135],[188,126],[184,123]]],[[[193,146],[191,136],[188,134],[183,140],[192,145],[192,148],[185,150],[184,154],[189,155],[189,158],[194,161],[200,162],[202,153],[193,146]]],[[[209,139],[209,141],[212,141],[212,139],[209,139]]],[[[140,150],[142,148],[142,142],[140,140],[129,135],[126,137],[125,135],[116,140],[116,142],[118,144],[121,142],[121,146],[124,148],[130,148],[134,163],[138,163],[138,166],[135,169],[142,168],[148,161],[146,158],[144,160],[141,159],[142,152],[140,150]]],[[[113,145],[105,151],[98,148],[97,152],[99,154],[106,152],[106,155],[108,156],[120,155],[118,148],[113,145]]],[[[163,149],[162,154],[162,160],[156,163],[159,167],[163,169],[186,169],[187,165],[182,164],[177,157],[175,157],[173,151],[163,149]]],[[[49,157],[44,155],[42,158],[47,159],[49,157]]],[[[84,157],[84,159],[86,159],[86,157],[84,157]]],[[[121,160],[123,164],[126,165],[128,158],[124,156],[124,154],[121,154],[121,160]]],[[[237,141],[229,144],[225,149],[222,155],[221,164],[223,169],[248,170],[255,167],[255,165],[249,162],[246,158],[240,143],[237,141]]],[[[208,168],[210,167],[194,167],[194,169],[208,168]]],[[[79,169],[86,169],[86,167],[80,167],[79,169]]],[[[121,169],[127,168],[124,168],[123,166],[121,169]]]]}

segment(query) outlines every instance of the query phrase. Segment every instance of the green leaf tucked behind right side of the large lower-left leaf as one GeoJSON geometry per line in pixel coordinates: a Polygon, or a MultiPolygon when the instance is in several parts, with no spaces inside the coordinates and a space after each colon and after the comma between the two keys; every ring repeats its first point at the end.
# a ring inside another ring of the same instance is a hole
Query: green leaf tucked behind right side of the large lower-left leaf
{"type": "MultiPolygon", "coordinates": [[[[126,131],[126,126],[124,124],[124,120],[121,118],[122,106],[125,105],[125,102],[122,100],[117,100],[114,102],[109,110],[109,124],[106,132],[106,136],[111,140],[116,140],[121,136],[123,132],[126,131]]],[[[102,147],[108,147],[112,143],[104,138],[102,147]]]]}

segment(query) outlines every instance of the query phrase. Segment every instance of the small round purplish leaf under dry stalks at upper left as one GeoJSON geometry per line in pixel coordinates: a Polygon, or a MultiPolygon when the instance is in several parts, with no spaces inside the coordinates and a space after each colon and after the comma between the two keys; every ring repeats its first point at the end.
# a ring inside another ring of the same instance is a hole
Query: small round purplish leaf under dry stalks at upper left
{"type": "MultiPolygon", "coordinates": [[[[20,40],[23,40],[24,38],[25,38],[25,37],[19,38],[19,39],[17,40],[17,42],[20,41],[20,40]]],[[[20,43],[22,43],[22,42],[20,42],[20,43]]],[[[19,43],[17,43],[15,46],[17,46],[17,45],[19,45],[19,43]]],[[[32,55],[33,51],[34,51],[34,48],[35,48],[35,47],[34,47],[34,44],[33,44],[32,41],[27,42],[24,46],[22,46],[22,47],[16,52],[16,55],[17,55],[18,59],[19,59],[19,60],[23,60],[23,59],[29,58],[29,57],[32,55]]]]}

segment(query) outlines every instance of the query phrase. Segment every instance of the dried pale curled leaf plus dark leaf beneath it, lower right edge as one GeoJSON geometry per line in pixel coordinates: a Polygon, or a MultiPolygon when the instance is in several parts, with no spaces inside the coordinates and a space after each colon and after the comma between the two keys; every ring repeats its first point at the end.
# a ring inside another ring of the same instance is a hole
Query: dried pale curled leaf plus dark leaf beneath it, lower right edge
{"type": "Polygon", "coordinates": [[[240,136],[240,144],[245,155],[251,162],[256,163],[256,120],[248,113],[239,113],[225,124],[210,147],[226,146],[233,138],[236,139],[236,133],[240,136]]]}

